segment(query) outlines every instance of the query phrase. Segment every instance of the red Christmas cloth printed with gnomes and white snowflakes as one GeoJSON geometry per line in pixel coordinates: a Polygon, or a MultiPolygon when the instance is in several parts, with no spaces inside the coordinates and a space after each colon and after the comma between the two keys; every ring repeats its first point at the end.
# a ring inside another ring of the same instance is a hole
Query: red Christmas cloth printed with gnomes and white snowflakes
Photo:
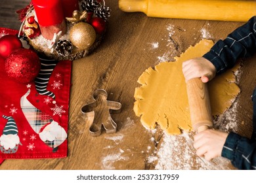
{"type": "MultiPolygon", "coordinates": [[[[0,28],[0,37],[17,31],[0,28]]],[[[0,163],[10,158],[67,156],[71,61],[40,59],[32,82],[16,82],[0,64],[0,163]]]]}

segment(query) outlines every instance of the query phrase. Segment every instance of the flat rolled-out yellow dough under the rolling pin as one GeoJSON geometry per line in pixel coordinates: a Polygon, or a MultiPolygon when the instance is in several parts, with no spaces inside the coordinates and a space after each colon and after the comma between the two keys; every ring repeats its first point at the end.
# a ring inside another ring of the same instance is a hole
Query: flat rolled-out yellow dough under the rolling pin
{"type": "MultiPolygon", "coordinates": [[[[213,41],[202,40],[175,57],[175,61],[159,63],[140,75],[137,82],[141,86],[135,89],[133,110],[144,127],[154,129],[160,125],[173,135],[181,134],[181,130],[192,130],[182,62],[202,56],[212,46],[213,41]]],[[[240,93],[233,71],[216,76],[208,84],[213,116],[222,114],[240,93]]]]}

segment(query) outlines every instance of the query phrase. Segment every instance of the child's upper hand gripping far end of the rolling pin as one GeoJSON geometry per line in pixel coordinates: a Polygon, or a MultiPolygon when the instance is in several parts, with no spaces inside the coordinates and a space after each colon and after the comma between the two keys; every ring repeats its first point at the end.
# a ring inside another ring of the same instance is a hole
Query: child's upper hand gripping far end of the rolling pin
{"type": "Polygon", "coordinates": [[[208,82],[216,75],[213,63],[203,57],[184,61],[182,71],[186,82],[192,78],[201,78],[202,82],[208,82]]]}

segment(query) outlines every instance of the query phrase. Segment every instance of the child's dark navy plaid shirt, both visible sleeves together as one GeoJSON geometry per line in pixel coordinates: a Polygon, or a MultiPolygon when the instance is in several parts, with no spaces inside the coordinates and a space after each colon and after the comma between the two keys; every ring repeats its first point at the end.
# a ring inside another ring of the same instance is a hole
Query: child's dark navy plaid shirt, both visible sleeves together
{"type": "MultiPolygon", "coordinates": [[[[238,27],[223,41],[216,44],[203,57],[211,61],[217,74],[233,67],[238,58],[253,56],[256,52],[256,16],[238,27]]],[[[253,134],[251,139],[229,133],[222,156],[231,160],[238,169],[256,169],[256,88],[253,99],[253,134]]]]}

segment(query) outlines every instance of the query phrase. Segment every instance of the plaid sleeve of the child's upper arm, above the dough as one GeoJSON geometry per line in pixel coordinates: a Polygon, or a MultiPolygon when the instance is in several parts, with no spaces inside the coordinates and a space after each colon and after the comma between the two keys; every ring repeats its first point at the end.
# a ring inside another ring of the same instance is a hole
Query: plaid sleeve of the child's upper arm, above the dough
{"type": "Polygon", "coordinates": [[[253,56],[256,52],[256,16],[234,30],[226,39],[219,40],[203,55],[215,65],[217,74],[234,66],[238,58],[253,56]]]}

